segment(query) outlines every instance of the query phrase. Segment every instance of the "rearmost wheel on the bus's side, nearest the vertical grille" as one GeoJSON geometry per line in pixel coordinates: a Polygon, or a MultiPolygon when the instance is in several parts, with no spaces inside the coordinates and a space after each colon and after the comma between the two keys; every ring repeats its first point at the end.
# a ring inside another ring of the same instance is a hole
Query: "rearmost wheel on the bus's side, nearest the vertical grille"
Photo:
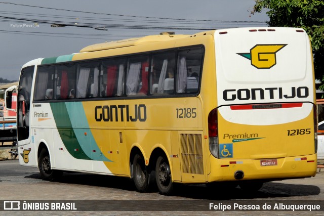
{"type": "Polygon", "coordinates": [[[159,156],[156,160],[155,179],[158,191],[163,195],[170,195],[173,191],[173,183],[171,179],[171,169],[168,159],[159,156]]]}

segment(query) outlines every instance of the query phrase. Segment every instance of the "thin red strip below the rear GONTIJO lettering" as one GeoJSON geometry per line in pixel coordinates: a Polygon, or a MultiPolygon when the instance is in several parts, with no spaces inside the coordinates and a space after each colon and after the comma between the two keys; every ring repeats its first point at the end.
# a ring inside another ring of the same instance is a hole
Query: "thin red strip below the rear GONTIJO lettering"
{"type": "Polygon", "coordinates": [[[231,110],[250,110],[250,109],[283,109],[302,107],[303,103],[288,103],[288,104],[247,104],[247,105],[233,105],[231,110]]]}

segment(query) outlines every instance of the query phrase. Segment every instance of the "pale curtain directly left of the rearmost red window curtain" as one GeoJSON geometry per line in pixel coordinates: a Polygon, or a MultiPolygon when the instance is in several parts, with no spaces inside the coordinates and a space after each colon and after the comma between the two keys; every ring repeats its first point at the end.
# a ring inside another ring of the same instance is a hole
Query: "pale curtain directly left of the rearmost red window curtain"
{"type": "Polygon", "coordinates": [[[131,63],[130,70],[127,74],[127,81],[126,81],[127,95],[135,95],[137,93],[140,71],[141,71],[141,62],[131,63]]]}

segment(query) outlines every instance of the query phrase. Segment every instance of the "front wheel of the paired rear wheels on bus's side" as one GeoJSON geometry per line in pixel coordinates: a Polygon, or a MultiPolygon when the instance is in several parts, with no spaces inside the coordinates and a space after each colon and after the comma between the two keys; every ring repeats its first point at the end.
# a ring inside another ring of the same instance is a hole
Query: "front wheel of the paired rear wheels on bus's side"
{"type": "Polygon", "coordinates": [[[138,192],[146,192],[148,189],[149,171],[145,165],[143,156],[136,154],[133,160],[133,178],[138,192]]]}

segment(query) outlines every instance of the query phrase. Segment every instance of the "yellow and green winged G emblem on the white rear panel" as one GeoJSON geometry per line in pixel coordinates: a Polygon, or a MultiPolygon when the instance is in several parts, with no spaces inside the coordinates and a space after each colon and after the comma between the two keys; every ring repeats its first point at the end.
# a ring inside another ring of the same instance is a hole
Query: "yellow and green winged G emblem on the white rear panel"
{"type": "Polygon", "coordinates": [[[258,69],[269,69],[277,63],[275,54],[286,46],[287,44],[256,45],[250,50],[250,53],[237,54],[251,60],[251,64],[258,69]]]}

